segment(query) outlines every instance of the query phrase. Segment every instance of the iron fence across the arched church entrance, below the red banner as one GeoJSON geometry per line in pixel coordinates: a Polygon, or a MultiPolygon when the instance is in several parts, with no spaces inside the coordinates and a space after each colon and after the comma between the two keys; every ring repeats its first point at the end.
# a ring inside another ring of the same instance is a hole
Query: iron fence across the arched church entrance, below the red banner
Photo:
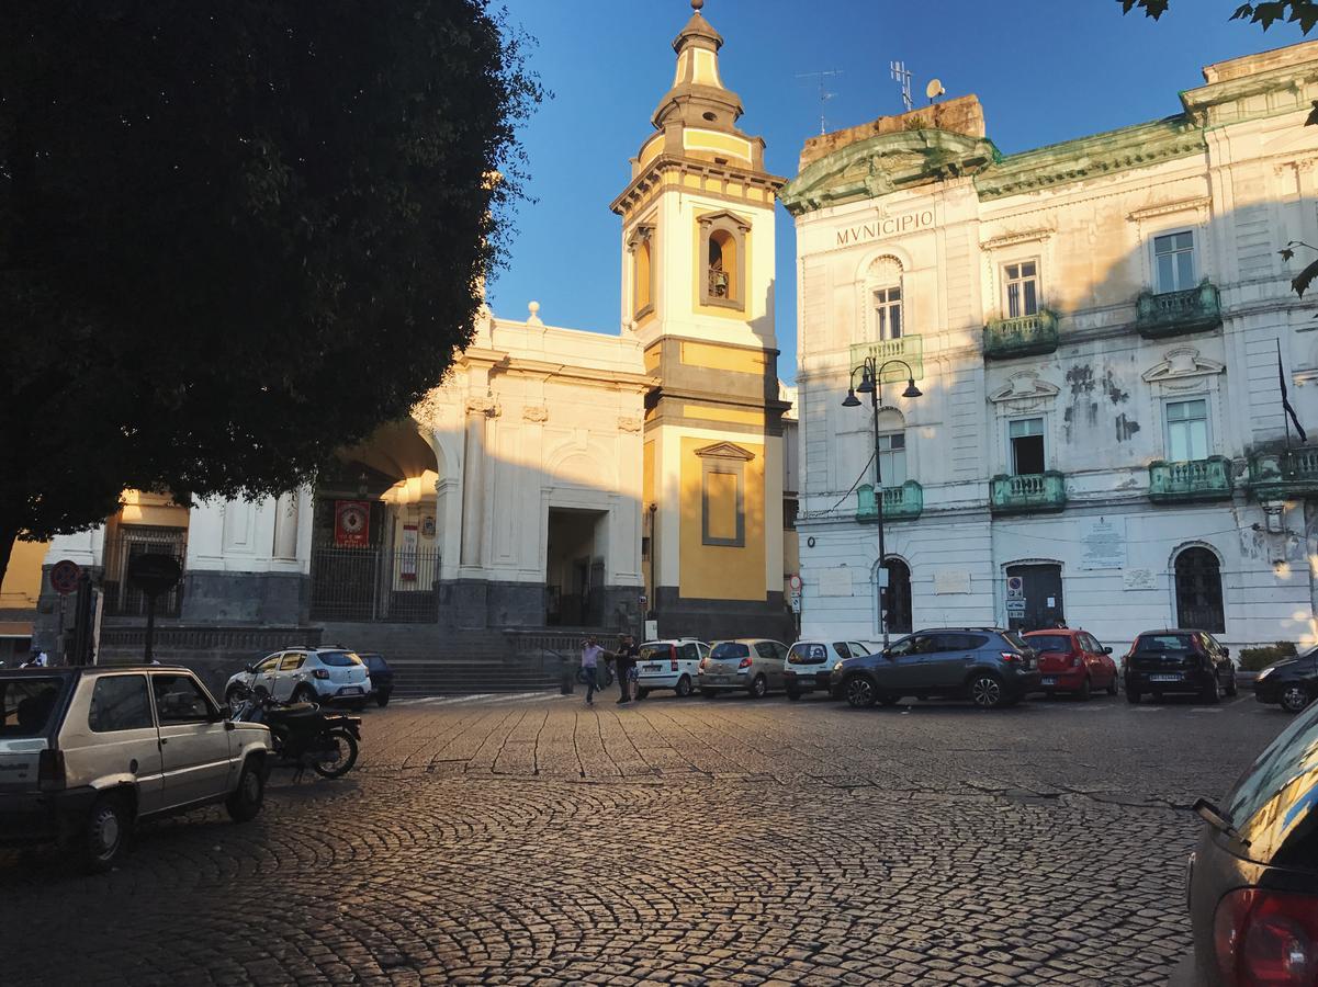
{"type": "Polygon", "coordinates": [[[311,619],[431,623],[439,567],[434,550],[312,548],[311,619]]]}

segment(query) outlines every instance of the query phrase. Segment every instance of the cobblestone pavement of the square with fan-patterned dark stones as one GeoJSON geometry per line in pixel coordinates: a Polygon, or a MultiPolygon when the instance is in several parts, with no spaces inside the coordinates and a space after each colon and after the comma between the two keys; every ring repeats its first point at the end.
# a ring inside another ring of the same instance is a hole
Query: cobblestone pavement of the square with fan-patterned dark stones
{"type": "Polygon", "coordinates": [[[1161,983],[1188,805],[1286,722],[1252,698],[390,706],[357,772],[279,772],[246,826],[148,825],[99,878],[0,853],[0,983],[1161,983]]]}

